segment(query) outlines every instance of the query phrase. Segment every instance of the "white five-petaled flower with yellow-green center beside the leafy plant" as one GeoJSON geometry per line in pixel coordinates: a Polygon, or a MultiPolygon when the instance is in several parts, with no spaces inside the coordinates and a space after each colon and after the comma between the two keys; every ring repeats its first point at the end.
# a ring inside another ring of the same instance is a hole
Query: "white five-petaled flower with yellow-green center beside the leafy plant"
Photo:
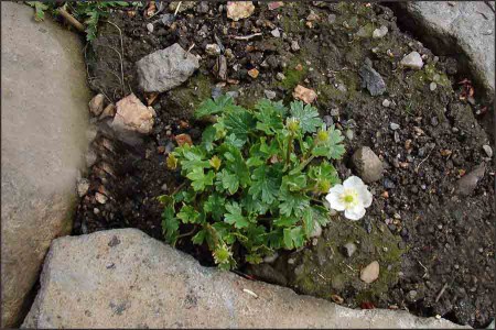
{"type": "Polygon", "coordinates": [[[359,220],[365,216],[365,208],[371,205],[373,195],[357,176],[351,176],[343,185],[335,185],[328,190],[325,199],[332,209],[345,211],[349,220],[359,220]]]}

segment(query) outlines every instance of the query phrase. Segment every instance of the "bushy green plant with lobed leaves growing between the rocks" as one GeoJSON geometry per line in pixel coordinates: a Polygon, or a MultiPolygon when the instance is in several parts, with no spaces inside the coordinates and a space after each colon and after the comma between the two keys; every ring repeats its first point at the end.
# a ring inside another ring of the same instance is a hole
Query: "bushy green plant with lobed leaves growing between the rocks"
{"type": "Polygon", "coordinates": [[[169,168],[186,179],[179,193],[160,197],[169,243],[182,223],[193,224],[193,243],[206,243],[220,267],[233,268],[241,258],[259,263],[279,249],[303,246],[326,224],[324,197],[341,183],[332,162],[345,148],[341,131],[327,128],[314,107],[262,99],[245,109],[222,96],[203,102],[195,117],[215,124],[200,143],[169,154],[169,168]]]}

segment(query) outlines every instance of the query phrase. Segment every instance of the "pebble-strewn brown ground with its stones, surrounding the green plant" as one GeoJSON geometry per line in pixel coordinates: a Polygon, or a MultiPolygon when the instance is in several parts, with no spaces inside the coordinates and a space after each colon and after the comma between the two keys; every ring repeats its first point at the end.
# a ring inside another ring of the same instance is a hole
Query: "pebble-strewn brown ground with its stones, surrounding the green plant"
{"type": "MultiPolygon", "coordinates": [[[[75,233],[133,227],[162,239],[155,197],[181,184],[164,161],[179,134],[201,136],[195,107],[223,92],[245,106],[288,102],[301,85],[345,134],[338,172],[367,178],[373,206],[360,222],[333,217],[308,248],[238,272],[349,307],[489,323],[494,131],[481,123],[493,127],[493,109],[477,101],[456,61],[399,31],[379,4],[260,2],[237,13],[223,2],[176,6],[153,16],[112,12],[85,52],[103,96],[91,105],[75,233]],[[165,56],[169,66],[158,69],[165,56]],[[168,84],[150,72],[169,75],[168,84]]],[[[212,264],[205,248],[187,239],[179,248],[212,264]]]]}

